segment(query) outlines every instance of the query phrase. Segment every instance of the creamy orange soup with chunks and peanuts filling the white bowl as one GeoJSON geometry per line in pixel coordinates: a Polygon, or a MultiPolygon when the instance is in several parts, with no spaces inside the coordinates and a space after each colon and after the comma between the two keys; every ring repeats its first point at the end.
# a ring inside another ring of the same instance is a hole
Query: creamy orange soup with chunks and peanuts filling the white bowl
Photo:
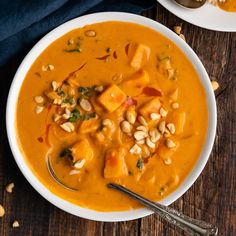
{"type": "Polygon", "coordinates": [[[37,178],[54,194],[98,211],[138,208],[108,189],[119,183],[151,199],[173,192],[198,160],[206,96],[186,56],[132,23],[73,30],[33,63],[16,128],[37,178]],[[47,161],[58,180],[48,171],[47,161]]]}

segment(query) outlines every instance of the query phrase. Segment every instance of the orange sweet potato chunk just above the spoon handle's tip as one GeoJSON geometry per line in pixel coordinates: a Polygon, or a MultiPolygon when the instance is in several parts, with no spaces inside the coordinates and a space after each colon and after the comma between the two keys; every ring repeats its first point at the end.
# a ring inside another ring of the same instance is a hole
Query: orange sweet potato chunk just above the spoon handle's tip
{"type": "Polygon", "coordinates": [[[124,156],[125,151],[123,149],[110,149],[107,151],[104,168],[105,178],[117,178],[127,175],[128,171],[124,156]]]}

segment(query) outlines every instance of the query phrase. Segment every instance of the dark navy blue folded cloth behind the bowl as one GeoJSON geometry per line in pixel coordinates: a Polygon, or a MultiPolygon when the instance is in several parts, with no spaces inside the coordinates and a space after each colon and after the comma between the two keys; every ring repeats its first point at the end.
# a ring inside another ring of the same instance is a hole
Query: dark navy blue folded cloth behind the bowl
{"type": "Polygon", "coordinates": [[[98,11],[141,13],[155,0],[1,0],[0,67],[26,52],[48,31],[77,16],[98,11]]]}

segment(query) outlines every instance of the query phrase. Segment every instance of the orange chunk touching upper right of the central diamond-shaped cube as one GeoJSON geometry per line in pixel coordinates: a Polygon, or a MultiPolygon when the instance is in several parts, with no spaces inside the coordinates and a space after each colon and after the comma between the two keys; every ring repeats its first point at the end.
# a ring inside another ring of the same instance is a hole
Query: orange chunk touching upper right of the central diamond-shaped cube
{"type": "Polygon", "coordinates": [[[121,89],[128,96],[137,96],[142,93],[145,86],[149,84],[149,75],[145,70],[134,73],[130,78],[121,83],[121,89]]]}

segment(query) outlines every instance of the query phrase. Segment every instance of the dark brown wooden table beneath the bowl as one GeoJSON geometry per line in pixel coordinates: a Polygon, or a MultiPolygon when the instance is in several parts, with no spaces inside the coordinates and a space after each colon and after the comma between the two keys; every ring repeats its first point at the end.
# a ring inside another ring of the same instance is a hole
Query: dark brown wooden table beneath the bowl
{"type": "MultiPolygon", "coordinates": [[[[218,126],[213,152],[201,176],[172,207],[218,225],[219,235],[236,235],[236,33],[193,26],[159,4],[144,15],[171,29],[182,24],[187,43],[202,60],[210,78],[220,84],[216,92],[218,126]]],[[[15,69],[13,63],[12,75],[15,69]]],[[[10,81],[2,81],[1,75],[0,107],[5,109],[10,81]]],[[[7,142],[3,112],[1,114],[0,203],[6,214],[0,219],[0,235],[184,235],[157,215],[129,222],[103,223],[81,219],[54,207],[30,186],[16,166],[7,142]],[[15,183],[12,194],[5,191],[9,182],[15,183]],[[12,228],[15,219],[20,228],[12,228]]]]}

